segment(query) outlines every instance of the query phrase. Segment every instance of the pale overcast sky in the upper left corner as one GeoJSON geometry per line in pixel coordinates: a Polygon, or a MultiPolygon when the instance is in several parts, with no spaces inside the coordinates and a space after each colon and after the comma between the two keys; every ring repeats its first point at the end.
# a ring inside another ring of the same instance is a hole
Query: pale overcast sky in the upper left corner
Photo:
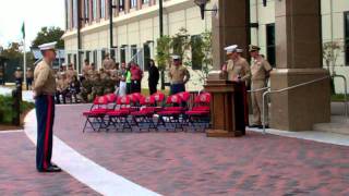
{"type": "Polygon", "coordinates": [[[22,40],[23,22],[28,48],[43,26],[64,28],[64,1],[0,0],[0,46],[22,40]]]}

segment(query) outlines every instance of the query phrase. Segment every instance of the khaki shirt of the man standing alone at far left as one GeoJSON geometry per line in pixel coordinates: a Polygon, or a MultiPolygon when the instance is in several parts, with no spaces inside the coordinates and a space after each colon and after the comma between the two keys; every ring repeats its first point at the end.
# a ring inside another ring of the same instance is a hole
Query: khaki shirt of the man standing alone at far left
{"type": "Polygon", "coordinates": [[[34,70],[33,86],[37,96],[55,95],[56,93],[55,71],[45,60],[39,62],[34,70]]]}

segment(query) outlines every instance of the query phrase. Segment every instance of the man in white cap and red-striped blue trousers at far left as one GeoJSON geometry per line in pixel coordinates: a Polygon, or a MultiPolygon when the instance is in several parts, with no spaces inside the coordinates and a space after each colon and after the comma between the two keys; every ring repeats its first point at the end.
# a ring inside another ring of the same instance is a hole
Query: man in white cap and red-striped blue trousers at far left
{"type": "Polygon", "coordinates": [[[56,78],[52,62],[56,42],[40,45],[44,59],[34,70],[34,98],[37,118],[36,169],[39,172],[60,172],[51,162],[52,127],[55,121],[56,78]]]}

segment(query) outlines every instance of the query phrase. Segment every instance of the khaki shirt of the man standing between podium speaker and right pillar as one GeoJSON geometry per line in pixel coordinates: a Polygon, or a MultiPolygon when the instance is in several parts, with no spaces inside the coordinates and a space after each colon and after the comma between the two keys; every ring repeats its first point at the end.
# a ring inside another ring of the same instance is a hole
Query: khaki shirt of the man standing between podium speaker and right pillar
{"type": "Polygon", "coordinates": [[[262,57],[253,61],[251,66],[252,81],[265,81],[268,77],[268,72],[272,71],[272,65],[262,57]]]}

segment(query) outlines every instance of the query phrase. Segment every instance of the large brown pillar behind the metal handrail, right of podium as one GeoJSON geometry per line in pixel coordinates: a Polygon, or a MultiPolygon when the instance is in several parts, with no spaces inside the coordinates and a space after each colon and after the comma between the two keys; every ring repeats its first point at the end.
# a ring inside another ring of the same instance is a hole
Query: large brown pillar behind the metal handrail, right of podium
{"type": "MultiPolygon", "coordinates": [[[[321,2],[318,0],[275,1],[276,65],[272,90],[328,75],[322,65],[321,2]]],[[[329,122],[329,79],[272,96],[272,127],[312,130],[314,123],[329,122]]]]}

